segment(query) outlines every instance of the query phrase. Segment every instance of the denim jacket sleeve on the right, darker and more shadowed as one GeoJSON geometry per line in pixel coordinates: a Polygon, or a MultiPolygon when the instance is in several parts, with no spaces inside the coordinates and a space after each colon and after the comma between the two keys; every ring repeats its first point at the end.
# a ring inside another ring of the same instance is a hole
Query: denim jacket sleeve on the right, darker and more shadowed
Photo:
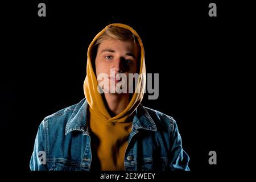
{"type": "Polygon", "coordinates": [[[170,156],[168,158],[168,169],[171,171],[189,171],[189,156],[182,148],[181,136],[176,121],[170,126],[170,156]]]}

